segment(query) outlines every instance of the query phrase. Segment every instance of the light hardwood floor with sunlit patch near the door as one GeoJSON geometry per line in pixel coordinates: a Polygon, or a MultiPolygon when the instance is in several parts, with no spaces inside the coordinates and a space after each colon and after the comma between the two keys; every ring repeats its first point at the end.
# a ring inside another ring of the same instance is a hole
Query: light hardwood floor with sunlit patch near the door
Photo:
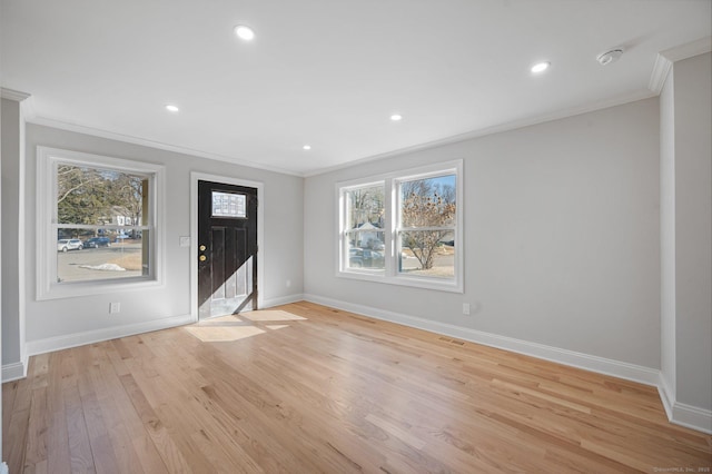
{"type": "Polygon", "coordinates": [[[298,303],[34,356],[10,473],[710,472],[653,387],[298,303]]]}

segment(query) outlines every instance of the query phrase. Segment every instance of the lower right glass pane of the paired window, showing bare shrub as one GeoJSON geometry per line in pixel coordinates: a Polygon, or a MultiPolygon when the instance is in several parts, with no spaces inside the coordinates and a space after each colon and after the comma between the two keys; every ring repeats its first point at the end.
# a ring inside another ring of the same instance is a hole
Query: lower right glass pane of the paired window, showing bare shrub
{"type": "Polygon", "coordinates": [[[453,278],[455,240],[452,230],[400,233],[398,271],[407,275],[453,278]]]}

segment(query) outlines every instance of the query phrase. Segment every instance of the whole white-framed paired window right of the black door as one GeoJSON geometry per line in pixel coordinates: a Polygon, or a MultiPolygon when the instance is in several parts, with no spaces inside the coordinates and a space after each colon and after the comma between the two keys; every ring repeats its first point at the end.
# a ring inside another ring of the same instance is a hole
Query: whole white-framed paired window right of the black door
{"type": "Polygon", "coordinates": [[[462,161],[337,185],[337,274],[463,290],[462,161]]]}

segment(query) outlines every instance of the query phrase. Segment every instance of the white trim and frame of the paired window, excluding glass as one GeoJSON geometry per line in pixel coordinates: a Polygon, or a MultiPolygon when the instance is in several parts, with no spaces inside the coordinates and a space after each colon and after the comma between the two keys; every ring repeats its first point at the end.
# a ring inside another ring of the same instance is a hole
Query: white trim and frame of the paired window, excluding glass
{"type": "Polygon", "coordinates": [[[378,282],[389,285],[411,286],[416,288],[436,289],[451,293],[464,293],[465,288],[465,251],[463,245],[464,235],[464,185],[463,185],[463,160],[444,161],[423,166],[418,168],[412,168],[398,172],[389,172],[379,176],[370,176],[362,179],[353,179],[348,181],[339,181],[336,184],[336,221],[338,223],[337,236],[336,236],[336,276],[342,278],[365,280],[365,282],[378,282]],[[397,184],[405,180],[427,178],[429,176],[442,176],[444,174],[454,174],[456,176],[455,186],[455,199],[457,203],[456,216],[455,216],[455,276],[452,279],[443,279],[436,277],[426,276],[408,276],[398,273],[397,269],[397,245],[394,239],[396,235],[396,225],[398,216],[398,200],[397,200],[397,184]],[[368,270],[363,268],[348,268],[346,265],[346,254],[344,249],[344,219],[346,204],[344,200],[345,191],[354,188],[367,187],[369,185],[378,185],[384,182],[385,187],[385,269],[384,270],[368,270]]]}

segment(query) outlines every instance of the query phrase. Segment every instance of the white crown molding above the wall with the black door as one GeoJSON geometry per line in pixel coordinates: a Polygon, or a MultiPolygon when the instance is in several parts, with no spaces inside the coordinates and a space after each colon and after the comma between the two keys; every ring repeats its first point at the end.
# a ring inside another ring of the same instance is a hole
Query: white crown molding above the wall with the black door
{"type": "Polygon", "coordinates": [[[263,169],[265,171],[278,172],[280,175],[298,176],[303,177],[300,172],[296,172],[289,169],[283,169],[276,166],[266,166],[255,161],[248,161],[245,159],[227,157],[224,155],[211,154],[208,151],[196,150],[192,148],[181,147],[177,145],[164,144],[161,141],[154,141],[146,138],[134,137],[130,135],[117,134],[113,131],[101,130],[98,128],[86,127],[82,125],[68,124],[61,120],[50,119],[47,117],[33,116],[27,119],[28,122],[34,125],[41,125],[44,127],[57,128],[60,130],[73,131],[76,134],[89,135],[92,137],[106,138],[108,140],[122,141],[125,144],[139,145],[148,148],[156,148],[165,151],[172,151],[176,154],[188,155],[198,158],[207,158],[216,161],[228,162],[230,165],[245,166],[248,168],[263,169]]]}

